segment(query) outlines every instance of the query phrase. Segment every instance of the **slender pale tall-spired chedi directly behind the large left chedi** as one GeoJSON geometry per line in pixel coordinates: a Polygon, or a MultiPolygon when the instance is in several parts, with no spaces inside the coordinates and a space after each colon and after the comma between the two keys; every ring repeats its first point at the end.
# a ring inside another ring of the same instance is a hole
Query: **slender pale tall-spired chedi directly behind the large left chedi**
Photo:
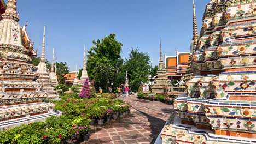
{"type": "MultiPolygon", "coordinates": [[[[53,69],[53,65],[51,65],[53,69]]],[[[42,56],[40,59],[40,63],[38,64],[37,73],[39,74],[39,78],[36,80],[39,83],[43,84],[43,91],[48,93],[48,99],[58,99],[59,95],[54,90],[53,83],[50,80],[49,72],[45,63],[45,27],[44,27],[44,36],[43,36],[43,46],[42,46],[42,56]]]]}

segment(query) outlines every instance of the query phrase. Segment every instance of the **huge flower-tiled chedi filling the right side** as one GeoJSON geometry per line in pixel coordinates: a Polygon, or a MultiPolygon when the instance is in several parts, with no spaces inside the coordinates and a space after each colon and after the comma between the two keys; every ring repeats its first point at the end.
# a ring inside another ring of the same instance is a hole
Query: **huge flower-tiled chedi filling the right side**
{"type": "Polygon", "coordinates": [[[164,143],[256,143],[256,2],[211,1],[164,143]]]}

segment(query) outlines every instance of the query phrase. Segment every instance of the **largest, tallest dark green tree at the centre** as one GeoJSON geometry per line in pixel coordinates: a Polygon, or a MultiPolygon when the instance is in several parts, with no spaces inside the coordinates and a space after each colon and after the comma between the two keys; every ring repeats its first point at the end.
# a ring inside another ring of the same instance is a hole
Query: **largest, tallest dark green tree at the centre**
{"type": "Polygon", "coordinates": [[[87,70],[95,87],[107,90],[115,83],[115,79],[123,64],[121,49],[123,44],[115,40],[115,34],[110,34],[102,40],[93,40],[94,46],[88,51],[87,70]]]}

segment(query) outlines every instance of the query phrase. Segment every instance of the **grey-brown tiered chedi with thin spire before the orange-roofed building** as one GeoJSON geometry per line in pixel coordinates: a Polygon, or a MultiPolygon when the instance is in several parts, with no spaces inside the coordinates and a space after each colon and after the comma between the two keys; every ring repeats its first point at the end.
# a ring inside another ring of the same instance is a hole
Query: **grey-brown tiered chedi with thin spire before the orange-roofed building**
{"type": "Polygon", "coordinates": [[[152,92],[163,94],[164,89],[169,86],[171,86],[171,81],[168,79],[164,61],[162,61],[162,43],[160,40],[160,61],[158,72],[156,73],[154,84],[152,85],[152,92]]]}

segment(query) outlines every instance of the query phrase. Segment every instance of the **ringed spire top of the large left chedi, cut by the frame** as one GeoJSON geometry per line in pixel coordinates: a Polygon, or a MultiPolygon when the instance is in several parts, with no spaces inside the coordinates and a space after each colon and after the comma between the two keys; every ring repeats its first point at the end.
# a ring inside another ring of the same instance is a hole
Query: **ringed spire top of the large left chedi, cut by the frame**
{"type": "Polygon", "coordinates": [[[19,21],[19,15],[16,11],[17,9],[17,0],[8,0],[7,8],[5,10],[5,13],[2,14],[3,19],[12,19],[15,21],[19,21]]]}

